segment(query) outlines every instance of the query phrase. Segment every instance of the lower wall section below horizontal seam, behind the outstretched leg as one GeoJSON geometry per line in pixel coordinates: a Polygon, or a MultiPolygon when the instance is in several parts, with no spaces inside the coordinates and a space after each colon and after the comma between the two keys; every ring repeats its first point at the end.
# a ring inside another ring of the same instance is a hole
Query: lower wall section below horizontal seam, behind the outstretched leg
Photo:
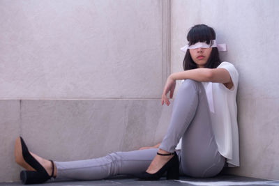
{"type": "Polygon", "coordinates": [[[163,139],[172,107],[160,100],[1,100],[0,183],[20,179],[15,139],[56,161],[83,160],[153,146],[163,139]]]}

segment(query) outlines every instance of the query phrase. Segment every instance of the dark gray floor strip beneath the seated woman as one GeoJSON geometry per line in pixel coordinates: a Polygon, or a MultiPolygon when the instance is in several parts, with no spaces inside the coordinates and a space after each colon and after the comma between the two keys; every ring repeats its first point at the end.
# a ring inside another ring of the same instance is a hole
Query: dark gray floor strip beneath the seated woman
{"type": "MultiPolygon", "coordinates": [[[[22,185],[22,183],[0,183],[3,185],[22,185]]],[[[84,185],[206,185],[206,186],[231,186],[231,185],[279,185],[279,180],[263,180],[257,178],[248,178],[241,176],[216,176],[215,178],[188,178],[181,177],[179,180],[165,180],[161,178],[158,181],[142,181],[127,176],[116,176],[106,180],[93,180],[93,181],[49,181],[43,185],[54,186],[84,186],[84,185]]],[[[33,185],[36,186],[36,185],[33,185]]]]}

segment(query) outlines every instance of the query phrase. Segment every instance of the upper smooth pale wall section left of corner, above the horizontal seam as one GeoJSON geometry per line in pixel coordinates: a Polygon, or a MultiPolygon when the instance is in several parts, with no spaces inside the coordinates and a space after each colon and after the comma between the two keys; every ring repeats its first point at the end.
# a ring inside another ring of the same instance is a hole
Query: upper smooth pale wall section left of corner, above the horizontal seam
{"type": "Polygon", "coordinates": [[[166,2],[1,0],[0,98],[160,98],[166,2]]]}

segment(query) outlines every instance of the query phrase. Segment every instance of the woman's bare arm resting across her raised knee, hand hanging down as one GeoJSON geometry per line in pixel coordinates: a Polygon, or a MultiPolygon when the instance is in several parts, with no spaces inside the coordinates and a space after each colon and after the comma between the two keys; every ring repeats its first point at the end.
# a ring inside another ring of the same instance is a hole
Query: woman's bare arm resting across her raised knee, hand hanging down
{"type": "Polygon", "coordinates": [[[193,79],[197,82],[218,82],[223,83],[227,88],[232,88],[232,78],[225,68],[196,68],[183,72],[175,72],[169,75],[162,95],[162,105],[165,103],[169,106],[169,98],[174,95],[176,80],[178,79],[193,79]],[[169,98],[167,98],[169,93],[169,98]]]}

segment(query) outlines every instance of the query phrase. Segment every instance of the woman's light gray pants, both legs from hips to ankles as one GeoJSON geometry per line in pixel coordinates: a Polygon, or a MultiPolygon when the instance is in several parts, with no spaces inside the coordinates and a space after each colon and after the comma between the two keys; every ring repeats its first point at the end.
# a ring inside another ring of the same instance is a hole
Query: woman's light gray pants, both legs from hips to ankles
{"type": "MultiPolygon", "coordinates": [[[[172,118],[160,148],[177,150],[181,175],[206,178],[216,176],[225,165],[211,127],[209,105],[202,83],[187,79],[176,95],[172,118]]],[[[56,178],[98,180],[119,174],[146,171],[158,148],[110,153],[105,157],[73,162],[55,162],[56,178]]]]}

